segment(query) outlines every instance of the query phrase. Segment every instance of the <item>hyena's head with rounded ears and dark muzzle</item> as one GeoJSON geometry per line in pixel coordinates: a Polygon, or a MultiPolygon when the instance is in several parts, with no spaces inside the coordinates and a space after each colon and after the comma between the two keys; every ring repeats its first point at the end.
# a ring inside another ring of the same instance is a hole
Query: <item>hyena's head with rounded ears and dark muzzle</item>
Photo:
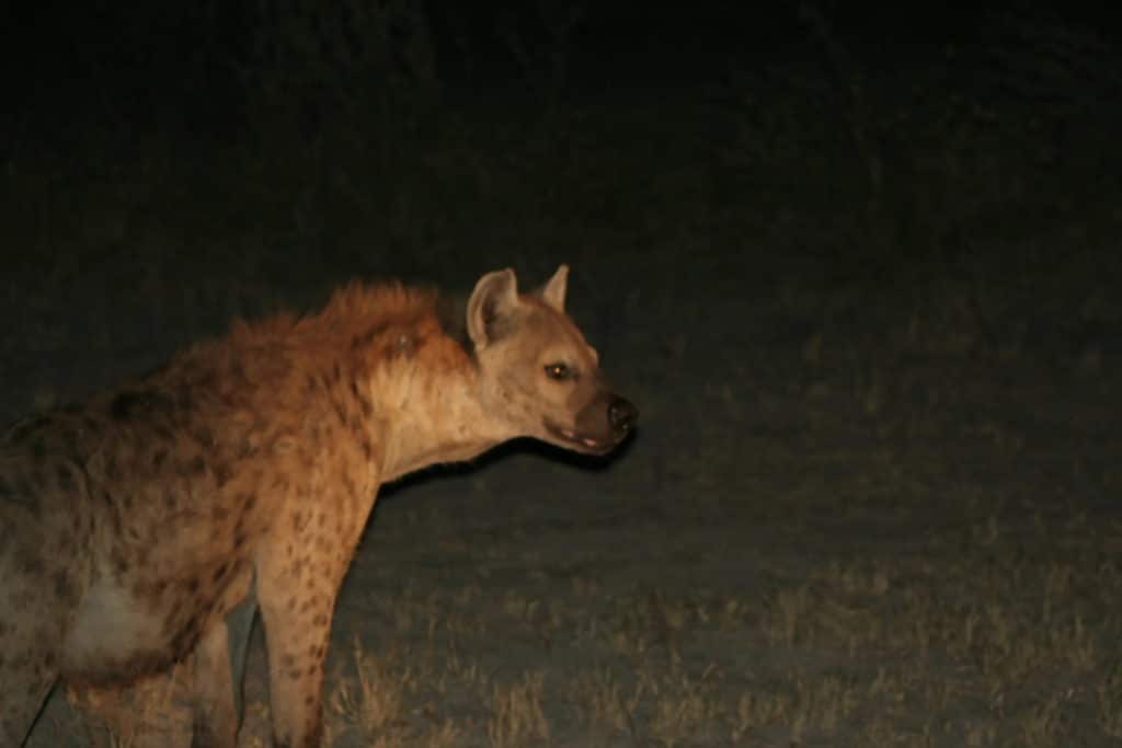
{"type": "Polygon", "coordinates": [[[599,354],[564,313],[568,266],[543,288],[518,294],[511,269],[479,279],[468,301],[484,407],[514,435],[606,454],[635,426],[635,406],[616,395],[599,354]]]}

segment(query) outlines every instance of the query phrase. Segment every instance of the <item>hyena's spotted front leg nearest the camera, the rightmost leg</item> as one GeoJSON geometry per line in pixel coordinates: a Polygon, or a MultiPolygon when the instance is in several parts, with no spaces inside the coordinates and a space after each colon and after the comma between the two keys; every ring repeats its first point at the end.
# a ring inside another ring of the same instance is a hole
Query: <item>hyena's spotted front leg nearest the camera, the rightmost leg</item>
{"type": "MultiPolygon", "coordinates": [[[[320,748],[323,662],[335,594],[346,566],[322,538],[291,537],[258,565],[257,599],[269,659],[269,705],[276,748],[320,748]],[[319,547],[318,553],[310,548],[319,547]]],[[[338,548],[338,544],[334,546],[338,548]]]]}

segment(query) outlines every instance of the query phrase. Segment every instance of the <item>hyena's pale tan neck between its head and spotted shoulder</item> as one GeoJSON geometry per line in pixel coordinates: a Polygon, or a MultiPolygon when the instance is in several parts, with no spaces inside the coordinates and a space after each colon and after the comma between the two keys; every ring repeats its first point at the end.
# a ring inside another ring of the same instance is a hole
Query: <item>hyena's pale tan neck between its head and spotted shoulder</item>
{"type": "Polygon", "coordinates": [[[371,386],[384,440],[383,480],[441,462],[461,462],[513,437],[481,401],[473,358],[447,331],[396,332],[402,353],[371,386]]]}

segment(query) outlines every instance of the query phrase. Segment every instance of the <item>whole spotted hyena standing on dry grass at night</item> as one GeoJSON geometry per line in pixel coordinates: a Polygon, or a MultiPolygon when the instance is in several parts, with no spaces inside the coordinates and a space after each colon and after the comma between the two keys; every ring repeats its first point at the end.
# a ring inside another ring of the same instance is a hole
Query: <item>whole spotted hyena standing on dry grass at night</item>
{"type": "Polygon", "coordinates": [[[260,612],[277,746],[319,746],[343,574],[378,487],[518,436],[606,454],[637,412],[565,315],[568,267],[467,303],[351,284],[238,323],[0,442],[0,745],[59,678],[121,687],[190,663],[194,746],[233,746],[227,615],[260,612]]]}

